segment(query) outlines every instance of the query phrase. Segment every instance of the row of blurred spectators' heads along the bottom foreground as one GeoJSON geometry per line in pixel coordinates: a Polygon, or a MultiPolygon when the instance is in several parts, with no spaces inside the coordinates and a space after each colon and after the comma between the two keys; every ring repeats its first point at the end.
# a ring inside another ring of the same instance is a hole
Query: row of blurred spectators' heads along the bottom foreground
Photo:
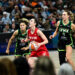
{"type": "Polygon", "coordinates": [[[8,58],[0,59],[0,75],[75,75],[72,66],[64,63],[58,72],[51,58],[42,56],[35,61],[31,68],[24,57],[18,57],[11,61],[8,58]]]}

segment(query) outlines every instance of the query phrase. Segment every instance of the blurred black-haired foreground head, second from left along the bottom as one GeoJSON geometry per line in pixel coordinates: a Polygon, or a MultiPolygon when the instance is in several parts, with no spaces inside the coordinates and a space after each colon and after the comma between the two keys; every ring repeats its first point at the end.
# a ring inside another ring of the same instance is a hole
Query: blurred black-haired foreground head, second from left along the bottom
{"type": "Polygon", "coordinates": [[[18,75],[29,75],[30,66],[26,60],[26,58],[19,57],[14,60],[14,64],[16,66],[18,75]]]}

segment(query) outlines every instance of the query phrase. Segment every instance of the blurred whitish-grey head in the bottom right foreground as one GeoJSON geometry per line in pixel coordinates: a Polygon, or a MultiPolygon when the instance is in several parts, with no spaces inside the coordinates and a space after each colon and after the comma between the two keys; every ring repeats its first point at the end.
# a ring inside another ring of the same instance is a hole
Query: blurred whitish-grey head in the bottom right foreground
{"type": "Polygon", "coordinates": [[[74,75],[73,69],[70,64],[64,63],[60,66],[58,75],[74,75]]]}

